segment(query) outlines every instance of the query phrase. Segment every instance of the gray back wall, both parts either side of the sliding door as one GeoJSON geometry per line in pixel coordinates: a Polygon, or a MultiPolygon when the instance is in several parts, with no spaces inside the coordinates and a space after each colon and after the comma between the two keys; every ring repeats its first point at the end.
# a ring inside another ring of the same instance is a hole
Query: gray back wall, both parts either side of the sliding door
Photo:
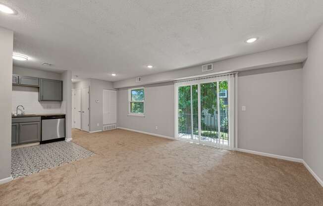
{"type": "MultiPolygon", "coordinates": [[[[239,148],[302,158],[301,67],[290,64],[241,72],[239,148]],[[241,105],[247,106],[243,113],[241,105]]],[[[145,86],[145,106],[145,117],[128,116],[128,90],[119,89],[118,127],[174,137],[173,83],[145,86]]]]}

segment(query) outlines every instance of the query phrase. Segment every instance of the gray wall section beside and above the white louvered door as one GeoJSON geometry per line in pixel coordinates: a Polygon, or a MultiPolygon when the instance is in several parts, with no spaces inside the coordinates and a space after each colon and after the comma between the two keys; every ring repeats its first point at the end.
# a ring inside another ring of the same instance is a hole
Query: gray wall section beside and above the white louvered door
{"type": "Polygon", "coordinates": [[[90,81],[90,131],[103,129],[103,90],[113,89],[112,82],[89,79],[90,81]],[[96,103],[99,100],[99,103],[96,103]],[[97,126],[99,124],[99,126],[97,126]]]}

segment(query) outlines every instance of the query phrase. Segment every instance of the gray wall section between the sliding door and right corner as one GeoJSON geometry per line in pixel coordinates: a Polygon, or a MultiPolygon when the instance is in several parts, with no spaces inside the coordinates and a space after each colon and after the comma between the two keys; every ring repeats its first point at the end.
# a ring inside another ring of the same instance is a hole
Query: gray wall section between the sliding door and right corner
{"type": "Polygon", "coordinates": [[[302,69],[239,73],[238,148],[302,158],[301,111],[302,69]]]}

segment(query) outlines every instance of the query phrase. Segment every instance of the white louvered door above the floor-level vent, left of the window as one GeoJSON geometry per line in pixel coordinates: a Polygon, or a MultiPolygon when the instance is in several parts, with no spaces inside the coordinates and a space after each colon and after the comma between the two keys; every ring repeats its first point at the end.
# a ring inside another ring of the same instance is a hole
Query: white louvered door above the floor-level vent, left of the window
{"type": "Polygon", "coordinates": [[[103,90],[103,124],[116,123],[116,91],[103,90]]]}

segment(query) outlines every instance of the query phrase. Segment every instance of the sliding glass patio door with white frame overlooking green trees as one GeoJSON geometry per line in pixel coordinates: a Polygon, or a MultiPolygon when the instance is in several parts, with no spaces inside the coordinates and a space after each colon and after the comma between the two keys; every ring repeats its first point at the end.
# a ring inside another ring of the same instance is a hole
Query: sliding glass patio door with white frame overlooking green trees
{"type": "Polygon", "coordinates": [[[229,147],[228,81],[194,81],[176,87],[177,138],[229,147]]]}

